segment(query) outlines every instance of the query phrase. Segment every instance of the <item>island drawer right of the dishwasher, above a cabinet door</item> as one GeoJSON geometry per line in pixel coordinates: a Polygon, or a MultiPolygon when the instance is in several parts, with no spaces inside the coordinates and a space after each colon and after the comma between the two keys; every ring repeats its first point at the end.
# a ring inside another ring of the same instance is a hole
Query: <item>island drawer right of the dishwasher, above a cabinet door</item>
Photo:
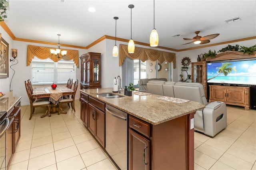
{"type": "Polygon", "coordinates": [[[130,128],[140,132],[141,134],[150,137],[150,123],[142,121],[136,117],[130,116],[129,118],[130,128]]]}

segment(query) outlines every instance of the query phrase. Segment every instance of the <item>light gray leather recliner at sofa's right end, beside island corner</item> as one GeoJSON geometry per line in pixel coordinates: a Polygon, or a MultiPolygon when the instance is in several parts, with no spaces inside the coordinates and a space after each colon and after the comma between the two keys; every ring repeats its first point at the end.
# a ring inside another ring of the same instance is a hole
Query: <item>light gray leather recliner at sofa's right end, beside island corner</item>
{"type": "Polygon", "coordinates": [[[207,103],[204,96],[204,87],[200,83],[175,83],[174,96],[180,99],[196,101],[205,105],[205,108],[196,111],[194,115],[194,130],[214,137],[227,126],[227,109],[224,102],[207,103]]]}

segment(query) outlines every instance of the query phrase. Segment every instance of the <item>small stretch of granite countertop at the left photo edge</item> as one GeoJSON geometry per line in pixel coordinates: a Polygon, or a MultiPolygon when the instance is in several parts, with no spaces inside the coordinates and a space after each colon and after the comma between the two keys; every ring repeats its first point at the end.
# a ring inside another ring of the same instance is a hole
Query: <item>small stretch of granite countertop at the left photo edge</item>
{"type": "Polygon", "coordinates": [[[20,99],[21,97],[12,97],[12,93],[6,93],[0,97],[0,112],[6,111],[9,113],[20,99]]]}

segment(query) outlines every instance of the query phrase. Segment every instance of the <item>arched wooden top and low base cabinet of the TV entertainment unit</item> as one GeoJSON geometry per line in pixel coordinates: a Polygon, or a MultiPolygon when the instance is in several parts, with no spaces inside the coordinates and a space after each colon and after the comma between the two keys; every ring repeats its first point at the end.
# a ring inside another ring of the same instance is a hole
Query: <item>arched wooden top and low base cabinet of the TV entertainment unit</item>
{"type": "MultiPolygon", "coordinates": [[[[210,61],[232,61],[256,59],[256,52],[253,55],[244,54],[238,51],[225,51],[214,58],[206,58],[206,63],[210,61]]],[[[250,109],[250,87],[243,86],[225,86],[225,85],[209,85],[210,99],[209,102],[222,101],[229,105],[243,106],[244,109],[250,109]]]]}

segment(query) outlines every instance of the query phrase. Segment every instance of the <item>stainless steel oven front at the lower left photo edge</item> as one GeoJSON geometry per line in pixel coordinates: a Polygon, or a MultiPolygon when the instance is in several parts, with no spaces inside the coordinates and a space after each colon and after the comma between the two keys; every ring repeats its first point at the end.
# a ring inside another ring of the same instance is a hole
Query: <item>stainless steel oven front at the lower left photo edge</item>
{"type": "Polygon", "coordinates": [[[6,162],[6,130],[9,125],[9,119],[6,112],[0,112],[0,169],[7,170],[6,162]]]}

